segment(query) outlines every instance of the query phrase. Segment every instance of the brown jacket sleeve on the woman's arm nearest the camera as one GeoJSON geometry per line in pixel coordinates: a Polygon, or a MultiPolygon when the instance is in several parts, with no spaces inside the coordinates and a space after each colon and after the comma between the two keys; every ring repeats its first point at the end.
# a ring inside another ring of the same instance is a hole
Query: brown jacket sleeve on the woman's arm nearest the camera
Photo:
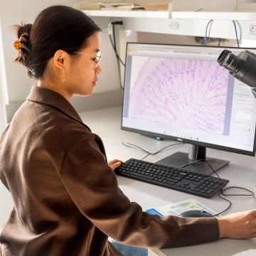
{"type": "Polygon", "coordinates": [[[75,146],[65,156],[60,176],[82,215],[103,233],[126,245],[151,248],[218,239],[216,218],[160,217],[129,201],[100,149],[102,145],[95,139],[75,146]]]}

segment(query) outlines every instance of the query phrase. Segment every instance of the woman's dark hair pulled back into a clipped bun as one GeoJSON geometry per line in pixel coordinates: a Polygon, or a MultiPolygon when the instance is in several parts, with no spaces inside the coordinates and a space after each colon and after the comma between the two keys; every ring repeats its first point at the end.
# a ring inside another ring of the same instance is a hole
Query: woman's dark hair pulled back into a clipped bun
{"type": "Polygon", "coordinates": [[[28,68],[30,78],[40,79],[56,50],[74,55],[99,31],[101,28],[82,11],[69,6],[50,6],[38,14],[33,25],[16,26],[17,37],[23,34],[27,40],[20,43],[15,61],[28,68]]]}

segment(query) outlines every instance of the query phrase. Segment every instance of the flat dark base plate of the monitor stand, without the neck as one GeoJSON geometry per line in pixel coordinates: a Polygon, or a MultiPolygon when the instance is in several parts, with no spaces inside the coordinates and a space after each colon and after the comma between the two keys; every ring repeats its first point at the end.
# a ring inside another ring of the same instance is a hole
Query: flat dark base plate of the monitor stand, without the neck
{"type": "MultiPolygon", "coordinates": [[[[206,157],[206,161],[208,162],[208,164],[210,164],[214,171],[223,168],[230,162],[222,159],[213,159],[210,157],[206,157]]],[[[206,161],[198,161],[195,164],[191,164],[194,162],[194,160],[189,159],[188,154],[178,151],[174,154],[171,154],[171,156],[167,156],[166,158],[157,161],[156,163],[163,164],[166,166],[173,166],[176,168],[181,168],[181,166],[183,166],[184,164],[190,164],[186,167],[183,167],[183,169],[193,171],[198,174],[209,175],[213,173],[213,170],[210,168],[210,166],[208,166],[206,161]]]]}

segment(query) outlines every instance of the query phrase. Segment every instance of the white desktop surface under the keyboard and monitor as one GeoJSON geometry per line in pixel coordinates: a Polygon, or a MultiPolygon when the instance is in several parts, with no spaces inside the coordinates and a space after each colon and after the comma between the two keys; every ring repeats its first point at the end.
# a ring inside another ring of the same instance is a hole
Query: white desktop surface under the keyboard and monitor
{"type": "MultiPolygon", "coordinates": [[[[85,124],[92,129],[92,132],[95,132],[102,138],[107,151],[107,158],[109,160],[120,159],[122,161],[126,161],[129,158],[142,159],[142,157],[146,155],[146,153],[139,151],[139,149],[132,149],[122,145],[122,142],[136,144],[137,146],[141,146],[143,149],[151,152],[158,151],[164,146],[174,143],[166,140],[158,141],[132,132],[122,131],[120,128],[121,107],[81,112],[80,116],[85,124]]],[[[148,156],[145,160],[152,162],[159,161],[176,151],[187,152],[188,145],[181,144],[170,147],[155,156],[148,156]]],[[[230,180],[228,186],[240,186],[250,190],[253,189],[253,186],[256,184],[255,157],[242,156],[215,149],[208,149],[207,155],[230,161],[228,166],[218,171],[221,178],[227,178],[230,180]]],[[[183,193],[169,188],[151,185],[142,181],[136,181],[131,178],[124,178],[122,176],[118,176],[118,181],[119,187],[124,191],[129,199],[139,203],[144,210],[191,198],[195,198],[197,201],[203,203],[205,206],[208,206],[216,212],[220,212],[228,206],[228,202],[218,198],[218,195],[215,195],[210,199],[202,198],[199,196],[193,196],[189,193],[183,193]]],[[[238,191],[237,189],[229,192],[242,193],[242,191],[238,191]]],[[[227,198],[232,201],[233,204],[224,214],[256,208],[256,199],[252,196],[228,196],[227,198]]],[[[149,255],[256,255],[256,239],[222,239],[217,242],[209,242],[203,245],[149,250],[149,255]]]]}

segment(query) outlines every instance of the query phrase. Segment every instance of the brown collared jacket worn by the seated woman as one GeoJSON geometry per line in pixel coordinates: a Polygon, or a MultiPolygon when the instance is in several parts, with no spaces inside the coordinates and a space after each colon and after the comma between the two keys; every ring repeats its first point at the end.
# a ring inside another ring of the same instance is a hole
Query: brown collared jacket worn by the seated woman
{"type": "Polygon", "coordinates": [[[121,255],[126,245],[163,248],[217,240],[216,218],[149,215],[129,201],[102,140],[70,102],[34,86],[0,139],[0,178],[14,208],[0,255],[121,255]]]}

